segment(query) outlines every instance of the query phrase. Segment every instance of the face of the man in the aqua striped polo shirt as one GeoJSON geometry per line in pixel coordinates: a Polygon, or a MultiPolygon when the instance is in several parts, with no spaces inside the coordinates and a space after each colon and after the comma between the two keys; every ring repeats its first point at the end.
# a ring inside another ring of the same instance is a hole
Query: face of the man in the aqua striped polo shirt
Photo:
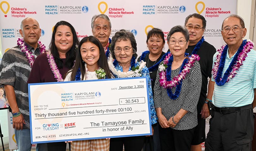
{"type": "MultiPolygon", "coordinates": [[[[240,20],[236,17],[229,17],[223,22],[223,27],[229,27],[229,26],[239,26],[242,27],[240,24],[240,20]]],[[[222,27],[222,28],[223,28],[222,27]]],[[[227,45],[230,46],[235,46],[239,48],[241,45],[243,39],[246,35],[246,28],[241,28],[238,32],[234,32],[232,29],[230,29],[229,32],[223,33],[221,31],[223,40],[227,43],[227,45]]]]}

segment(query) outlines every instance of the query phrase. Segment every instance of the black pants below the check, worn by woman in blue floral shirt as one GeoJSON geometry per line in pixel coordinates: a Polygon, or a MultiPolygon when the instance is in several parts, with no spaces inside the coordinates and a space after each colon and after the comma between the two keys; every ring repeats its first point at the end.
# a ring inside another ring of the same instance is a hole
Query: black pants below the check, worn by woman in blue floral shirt
{"type": "Polygon", "coordinates": [[[141,151],[145,136],[111,138],[109,151],[141,151]]]}

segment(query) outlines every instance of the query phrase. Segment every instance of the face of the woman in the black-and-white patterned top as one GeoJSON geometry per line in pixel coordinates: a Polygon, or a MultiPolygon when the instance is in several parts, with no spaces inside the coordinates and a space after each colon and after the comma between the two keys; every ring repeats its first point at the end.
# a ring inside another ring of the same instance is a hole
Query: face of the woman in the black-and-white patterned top
{"type": "Polygon", "coordinates": [[[170,52],[174,57],[184,57],[186,48],[188,47],[189,42],[186,42],[185,36],[181,32],[175,32],[171,35],[170,40],[168,42],[168,47],[170,52]],[[171,45],[171,41],[176,41],[174,45],[171,45]],[[184,44],[179,44],[178,41],[185,41],[184,44]]]}

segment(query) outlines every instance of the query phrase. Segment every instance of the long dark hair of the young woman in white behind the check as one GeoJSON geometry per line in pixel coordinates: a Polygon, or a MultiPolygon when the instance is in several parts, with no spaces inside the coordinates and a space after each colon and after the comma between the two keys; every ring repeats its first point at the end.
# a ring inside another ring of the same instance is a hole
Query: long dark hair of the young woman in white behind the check
{"type": "Polygon", "coordinates": [[[108,64],[107,64],[107,57],[105,55],[105,51],[104,51],[104,48],[101,45],[101,42],[94,36],[88,36],[88,37],[84,37],[81,40],[81,42],[79,43],[78,50],[76,51],[75,65],[70,71],[67,72],[67,74],[72,72],[71,77],[70,77],[70,81],[75,81],[76,71],[78,70],[78,68],[80,68],[81,74],[82,74],[82,79],[84,79],[86,71],[85,71],[85,65],[84,65],[84,62],[82,60],[82,56],[81,56],[81,53],[80,53],[80,49],[81,49],[82,44],[85,43],[85,42],[91,42],[100,49],[100,58],[98,60],[98,65],[99,65],[100,68],[105,70],[107,77],[111,78],[112,75],[110,73],[110,70],[109,70],[109,67],[108,67],[108,64]]]}

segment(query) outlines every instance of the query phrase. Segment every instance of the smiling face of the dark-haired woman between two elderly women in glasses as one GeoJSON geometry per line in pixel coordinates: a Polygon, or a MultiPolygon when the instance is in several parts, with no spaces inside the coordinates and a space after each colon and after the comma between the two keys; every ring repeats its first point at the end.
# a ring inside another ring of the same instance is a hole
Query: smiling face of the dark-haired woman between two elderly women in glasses
{"type": "Polygon", "coordinates": [[[149,40],[147,41],[147,46],[149,48],[149,52],[150,54],[161,54],[163,47],[164,47],[164,43],[162,38],[158,38],[156,36],[152,36],[149,38],[149,40]]]}

